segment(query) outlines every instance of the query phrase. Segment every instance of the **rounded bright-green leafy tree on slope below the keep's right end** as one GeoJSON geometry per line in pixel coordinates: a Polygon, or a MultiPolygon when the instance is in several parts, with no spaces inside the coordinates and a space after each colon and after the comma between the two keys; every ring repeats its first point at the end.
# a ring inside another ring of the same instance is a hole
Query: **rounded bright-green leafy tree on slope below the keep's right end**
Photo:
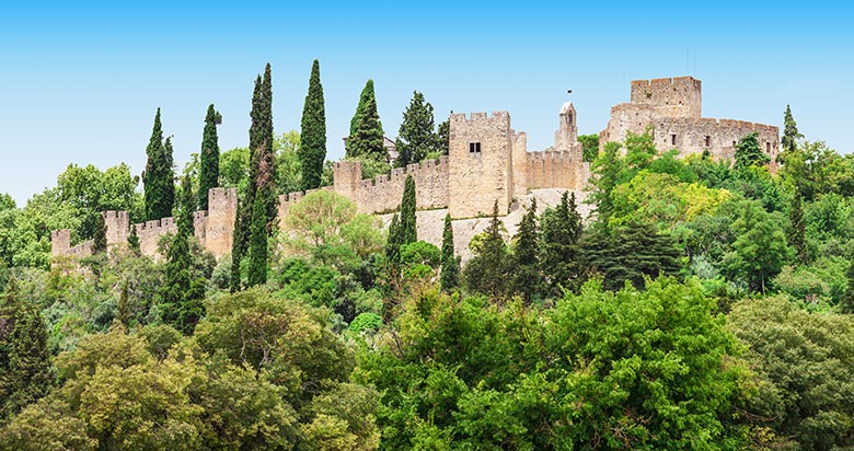
{"type": "Polygon", "coordinates": [[[750,291],[764,293],[788,258],[786,234],[758,201],[745,200],[738,207],[740,215],[731,226],[736,241],[724,264],[731,276],[748,284],[750,291]]]}

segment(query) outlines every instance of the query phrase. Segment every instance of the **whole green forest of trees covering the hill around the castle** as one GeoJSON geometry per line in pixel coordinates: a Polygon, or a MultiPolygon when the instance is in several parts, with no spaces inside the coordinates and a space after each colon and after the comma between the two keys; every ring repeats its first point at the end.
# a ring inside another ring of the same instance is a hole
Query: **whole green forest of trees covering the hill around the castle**
{"type": "MultiPolygon", "coordinates": [[[[299,130],[272,92],[268,65],[247,147],[220,152],[210,105],[178,172],[158,111],[141,176],[0,195],[0,449],[854,450],[854,157],[788,107],[776,171],[755,135],[731,162],[581,137],[595,213],[494,213],[461,262],[450,217],[418,240],[412,178],[386,228],[328,190],[277,223],[331,166],[319,62],[299,130]],[[192,219],[215,186],[240,196],[219,261],[192,219]],[[105,210],[177,232],[107,248],[105,210]],[[51,258],[57,229],[94,254],[51,258]]],[[[388,173],[448,132],[414,92],[390,164],[368,81],[346,158],[388,173]]]]}

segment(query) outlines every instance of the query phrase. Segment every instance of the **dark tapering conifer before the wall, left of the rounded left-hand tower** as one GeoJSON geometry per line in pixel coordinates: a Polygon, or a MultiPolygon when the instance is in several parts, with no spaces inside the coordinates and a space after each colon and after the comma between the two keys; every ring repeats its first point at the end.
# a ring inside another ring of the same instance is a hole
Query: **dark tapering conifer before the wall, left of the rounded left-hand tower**
{"type": "Polygon", "coordinates": [[[189,297],[192,277],[189,268],[189,238],[193,235],[193,210],[196,201],[189,177],[181,183],[181,203],[177,216],[177,233],[166,251],[165,280],[160,290],[163,322],[189,335],[204,314],[200,299],[189,297]]]}

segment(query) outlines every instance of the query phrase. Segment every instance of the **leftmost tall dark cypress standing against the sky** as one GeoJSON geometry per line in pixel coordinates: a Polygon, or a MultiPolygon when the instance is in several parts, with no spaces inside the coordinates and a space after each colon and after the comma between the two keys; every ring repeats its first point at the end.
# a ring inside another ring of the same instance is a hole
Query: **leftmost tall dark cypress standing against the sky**
{"type": "Polygon", "coordinates": [[[142,173],[142,184],[146,189],[146,220],[155,220],[172,216],[175,201],[174,170],[172,169],[172,138],[163,142],[163,130],[160,124],[160,108],[154,116],[154,127],[146,149],[148,162],[142,173]]]}

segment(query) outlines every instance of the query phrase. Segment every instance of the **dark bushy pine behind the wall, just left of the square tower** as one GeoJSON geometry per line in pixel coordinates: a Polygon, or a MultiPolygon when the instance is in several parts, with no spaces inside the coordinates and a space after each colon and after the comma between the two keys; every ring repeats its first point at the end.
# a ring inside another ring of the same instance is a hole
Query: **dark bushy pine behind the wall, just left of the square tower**
{"type": "Polygon", "coordinates": [[[424,94],[413,92],[409,106],[403,112],[403,123],[399,131],[395,148],[397,149],[399,167],[406,167],[409,163],[418,163],[427,157],[427,153],[437,149],[438,138],[432,115],[432,105],[424,102],[424,94]]]}

